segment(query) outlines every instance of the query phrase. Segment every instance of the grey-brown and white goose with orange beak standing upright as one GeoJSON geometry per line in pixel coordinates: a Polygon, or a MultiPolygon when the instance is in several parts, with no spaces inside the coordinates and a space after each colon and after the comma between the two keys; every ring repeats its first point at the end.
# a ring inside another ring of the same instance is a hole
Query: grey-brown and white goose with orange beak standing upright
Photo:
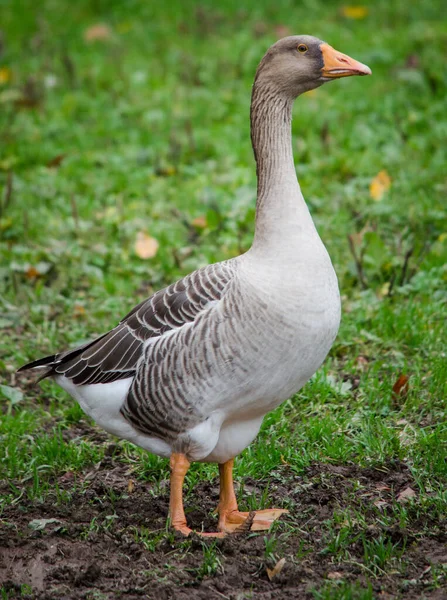
{"type": "Polygon", "coordinates": [[[292,105],[326,82],[370,74],[312,36],[273,44],[252,90],[250,249],[156,292],[97,339],[19,369],[52,377],[107,432],[170,459],[170,522],[184,535],[192,461],[219,465],[217,531],[200,535],[262,531],[287,512],[239,511],[233,464],[264,416],[320,367],[340,324],[337,277],[295,171],[292,105]]]}

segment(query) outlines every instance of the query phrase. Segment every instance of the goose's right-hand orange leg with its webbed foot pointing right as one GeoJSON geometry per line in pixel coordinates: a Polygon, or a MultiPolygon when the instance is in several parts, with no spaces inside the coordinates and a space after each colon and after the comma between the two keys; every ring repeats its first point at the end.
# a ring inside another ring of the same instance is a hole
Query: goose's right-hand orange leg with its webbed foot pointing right
{"type": "Polygon", "coordinates": [[[247,522],[247,530],[250,531],[270,529],[276,519],[289,511],[283,508],[271,508],[253,511],[252,513],[241,512],[238,509],[234,493],[233,465],[234,459],[219,465],[220,497],[217,509],[219,512],[219,525],[217,528],[225,533],[234,533],[237,530],[243,531],[244,524],[247,522]]]}

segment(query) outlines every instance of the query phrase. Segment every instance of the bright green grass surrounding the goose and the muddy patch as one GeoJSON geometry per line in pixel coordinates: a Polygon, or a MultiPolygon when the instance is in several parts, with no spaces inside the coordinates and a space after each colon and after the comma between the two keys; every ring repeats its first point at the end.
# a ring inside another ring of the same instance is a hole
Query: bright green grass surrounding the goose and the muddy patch
{"type": "MultiPolygon", "coordinates": [[[[94,337],[157,288],[249,247],[250,86],[266,48],[290,28],[367,63],[373,76],[297,101],[297,172],[339,276],[343,320],[324,366],[266,417],[239,458],[239,496],[249,509],[267,505],[272,473],[290,486],[315,464],[408,466],[416,495],[407,503],[395,496],[365,513],[359,481],[322,524],[324,555],[346,564],[355,555],[366,582],[322,583],[318,599],[373,598],[368,582],[404,574],[411,546],[387,531],[411,530],[416,540],[438,531],[447,510],[447,31],[440,1],[362,4],[367,12],[355,19],[335,1],[167,9],[82,0],[59,10],[45,0],[3,10],[0,473],[9,484],[0,511],[53,494],[70,502],[57,477],[85,474],[110,445],[53,382],[32,388],[15,369],[94,337]],[[88,41],[98,23],[107,26],[102,39],[88,41]],[[391,185],[373,199],[383,170],[391,185]],[[159,243],[151,259],[135,251],[139,232],[159,243]],[[402,375],[408,383],[396,391],[402,375]],[[262,498],[246,478],[265,480],[262,498]]],[[[166,461],[115,447],[150,493],[165,493],[166,461]]],[[[194,465],[186,503],[215,476],[213,466],[194,465]]],[[[284,506],[293,512],[296,501],[287,496],[284,506]]],[[[276,535],[299,534],[293,517],[288,527],[266,538],[265,556],[277,554],[276,535]]],[[[155,551],[167,534],[133,535],[155,551]]],[[[222,565],[220,550],[204,549],[199,579],[222,565]]],[[[445,571],[433,567],[432,576],[437,589],[445,571]]]]}

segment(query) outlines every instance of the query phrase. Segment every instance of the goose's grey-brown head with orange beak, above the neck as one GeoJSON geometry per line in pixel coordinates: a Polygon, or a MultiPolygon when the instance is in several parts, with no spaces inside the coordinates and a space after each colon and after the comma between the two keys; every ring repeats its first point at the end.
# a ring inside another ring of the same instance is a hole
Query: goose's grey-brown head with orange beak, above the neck
{"type": "Polygon", "coordinates": [[[293,35],[269,48],[255,84],[296,98],[327,81],[353,75],[371,75],[371,69],[316,37],[293,35]]]}

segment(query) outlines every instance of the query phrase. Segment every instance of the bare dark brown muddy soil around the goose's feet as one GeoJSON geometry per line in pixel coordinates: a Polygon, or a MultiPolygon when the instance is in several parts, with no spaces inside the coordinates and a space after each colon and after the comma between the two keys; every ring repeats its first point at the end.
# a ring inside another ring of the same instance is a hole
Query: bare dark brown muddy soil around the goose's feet
{"type": "MultiPolygon", "coordinates": [[[[57,503],[50,494],[52,500],[20,500],[6,508],[0,521],[0,582],[6,593],[2,597],[296,600],[313,598],[312,589],[343,579],[365,587],[367,580],[371,581],[374,598],[447,598],[447,591],[428,585],[431,568],[447,563],[445,523],[414,521],[414,531],[398,527],[380,530],[393,543],[405,545],[404,572],[368,575],[361,564],[363,546],[359,541],[349,546],[349,558],[339,563],[325,551],[322,523],[334,510],[350,505],[367,516],[374,503],[385,506],[407,486],[416,487],[403,463],[381,471],[314,464],[304,475],[296,475],[284,465],[280,472],[272,473],[272,505],[282,506],[285,497],[296,502],[294,514],[282,517],[271,535],[278,540],[273,558],[266,556],[265,534],[240,534],[214,542],[193,537],[186,544],[181,537],[164,535],[151,551],[141,540],[136,541],[135,531],[144,527],[165,530],[168,487],[153,494],[147,483],[135,482],[129,487],[127,469],[119,458],[107,456],[82,478],[75,480],[66,473],[58,479],[60,490],[73,490],[74,482],[79,490],[68,503],[57,503]],[[95,517],[97,527],[92,526],[95,517]],[[39,521],[33,523],[36,519],[39,521]],[[52,520],[42,526],[42,519],[52,520]],[[430,530],[430,535],[421,533],[424,530],[430,530]],[[207,572],[204,545],[210,544],[215,544],[212,552],[218,562],[207,572]],[[282,557],[286,559],[283,570],[269,581],[266,568],[282,557]]],[[[249,480],[244,485],[260,496],[265,482],[249,480]]],[[[6,483],[2,486],[0,493],[8,489],[6,483]]],[[[217,480],[197,486],[194,510],[188,515],[193,527],[215,528],[210,514],[217,499],[217,480]]],[[[377,517],[377,511],[375,514],[377,517]]],[[[366,531],[373,538],[378,529],[371,525],[366,531]]]]}

